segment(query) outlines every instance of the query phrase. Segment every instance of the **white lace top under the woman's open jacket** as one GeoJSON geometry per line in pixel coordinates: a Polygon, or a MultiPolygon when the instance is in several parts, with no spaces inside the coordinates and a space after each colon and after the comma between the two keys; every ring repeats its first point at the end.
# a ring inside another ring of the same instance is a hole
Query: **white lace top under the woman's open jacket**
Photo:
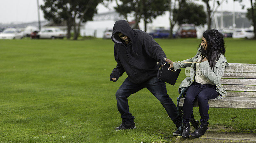
{"type": "MultiPolygon", "coordinates": [[[[202,57],[199,58],[197,61],[201,61],[202,57]]],[[[196,63],[196,76],[195,76],[195,81],[197,83],[203,83],[203,84],[212,84],[215,85],[214,83],[212,83],[207,77],[205,77],[202,74],[202,71],[199,68],[199,63],[196,63]]]]}

